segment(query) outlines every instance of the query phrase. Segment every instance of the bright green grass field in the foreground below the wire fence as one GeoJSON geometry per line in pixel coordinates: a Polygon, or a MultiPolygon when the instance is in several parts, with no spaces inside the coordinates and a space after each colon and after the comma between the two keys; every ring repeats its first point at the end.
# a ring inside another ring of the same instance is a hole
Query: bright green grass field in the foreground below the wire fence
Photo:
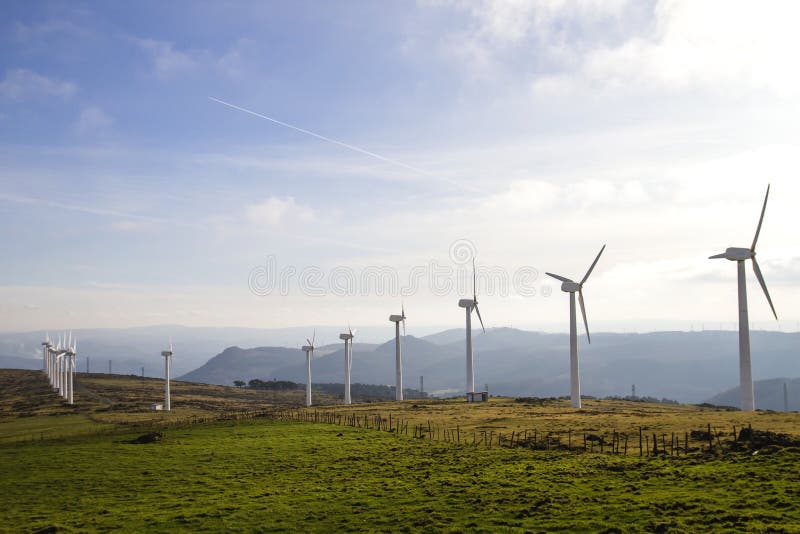
{"type": "MultiPolygon", "coordinates": [[[[2,404],[22,407],[6,395],[9,388],[2,391],[2,404]]],[[[481,406],[482,418],[480,410],[469,411],[474,407],[441,404],[454,410],[442,420],[463,415],[474,425],[482,419],[499,425],[496,412],[514,404],[554,410],[500,400],[481,406]]],[[[61,413],[58,401],[56,415],[49,415],[48,405],[25,417],[3,411],[0,432],[24,434],[37,425],[70,426],[73,418],[94,416],[61,413]]],[[[412,406],[348,411],[428,410],[412,406]]],[[[614,417],[622,417],[620,410],[614,417]]],[[[581,412],[571,422],[569,413],[556,411],[572,428],[587,424],[587,417],[594,417],[594,426],[602,420],[581,412]]],[[[115,417],[122,421],[122,414],[115,417]]],[[[431,408],[420,418],[433,414],[431,408]]],[[[737,412],[715,417],[728,424],[729,414],[737,412]]],[[[523,426],[537,424],[535,414],[529,417],[523,426]]],[[[664,417],[655,413],[650,424],[672,424],[659,423],[664,417]]],[[[164,437],[145,444],[132,441],[146,425],[111,423],[0,442],[0,531],[800,532],[795,445],[757,454],[745,448],[639,458],[488,449],[272,418],[154,426],[164,437]]]]}

